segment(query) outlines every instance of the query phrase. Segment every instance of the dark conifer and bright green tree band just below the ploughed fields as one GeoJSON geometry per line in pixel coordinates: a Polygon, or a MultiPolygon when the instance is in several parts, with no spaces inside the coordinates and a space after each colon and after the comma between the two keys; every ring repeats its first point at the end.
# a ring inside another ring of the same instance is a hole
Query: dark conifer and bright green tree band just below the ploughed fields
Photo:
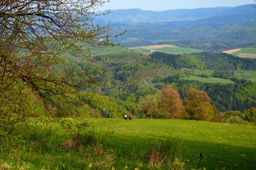
{"type": "Polygon", "coordinates": [[[255,59],[239,58],[227,53],[168,54],[154,52],[149,57],[151,62],[165,63],[176,69],[256,70],[255,59]]]}

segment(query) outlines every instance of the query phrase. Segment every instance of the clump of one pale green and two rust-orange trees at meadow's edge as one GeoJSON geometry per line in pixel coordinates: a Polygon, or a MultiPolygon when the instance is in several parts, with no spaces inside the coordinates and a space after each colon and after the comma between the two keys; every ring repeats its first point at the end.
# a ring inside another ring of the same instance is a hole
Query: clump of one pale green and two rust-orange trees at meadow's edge
{"type": "Polygon", "coordinates": [[[161,89],[156,95],[149,95],[139,102],[139,110],[149,118],[178,118],[211,121],[220,117],[218,110],[210,104],[205,91],[189,88],[180,94],[171,85],[161,89]]]}

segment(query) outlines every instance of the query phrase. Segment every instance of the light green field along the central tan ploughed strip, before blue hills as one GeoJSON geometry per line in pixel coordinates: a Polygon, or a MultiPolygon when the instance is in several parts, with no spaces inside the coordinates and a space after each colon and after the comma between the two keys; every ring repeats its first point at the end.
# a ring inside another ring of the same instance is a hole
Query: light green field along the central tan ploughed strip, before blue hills
{"type": "Polygon", "coordinates": [[[184,47],[164,47],[164,48],[156,48],[156,49],[136,48],[134,50],[138,50],[138,51],[155,50],[158,52],[175,53],[175,54],[190,54],[190,53],[199,53],[203,51],[203,50],[198,50],[194,48],[184,48],[184,47]]]}

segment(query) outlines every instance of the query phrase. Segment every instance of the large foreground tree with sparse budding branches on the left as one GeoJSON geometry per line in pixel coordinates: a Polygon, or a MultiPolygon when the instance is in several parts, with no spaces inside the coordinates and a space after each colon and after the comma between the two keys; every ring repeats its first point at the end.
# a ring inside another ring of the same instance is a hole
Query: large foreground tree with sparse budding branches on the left
{"type": "Polygon", "coordinates": [[[24,108],[31,102],[28,93],[43,101],[48,116],[55,110],[73,113],[74,105],[81,104],[77,97],[79,90],[99,83],[105,70],[97,74],[74,73],[72,68],[56,71],[56,65],[64,62],[65,53],[90,60],[90,50],[82,48],[81,43],[113,45],[108,40],[109,25],[93,23],[94,17],[101,15],[97,8],[104,3],[101,0],[0,2],[2,130],[11,130],[13,124],[26,117],[24,108]]]}

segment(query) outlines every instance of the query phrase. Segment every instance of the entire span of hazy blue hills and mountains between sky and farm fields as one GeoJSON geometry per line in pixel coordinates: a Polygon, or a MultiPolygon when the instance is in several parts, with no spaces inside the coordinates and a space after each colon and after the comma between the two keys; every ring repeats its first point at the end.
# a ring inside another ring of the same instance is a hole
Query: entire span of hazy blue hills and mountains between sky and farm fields
{"type": "Polygon", "coordinates": [[[192,10],[110,10],[104,20],[99,17],[97,22],[110,22],[113,35],[126,31],[123,36],[111,39],[126,47],[131,47],[127,42],[145,46],[159,43],[159,39],[170,43],[177,40],[229,41],[239,45],[255,42],[255,12],[251,4],[192,10]]]}

